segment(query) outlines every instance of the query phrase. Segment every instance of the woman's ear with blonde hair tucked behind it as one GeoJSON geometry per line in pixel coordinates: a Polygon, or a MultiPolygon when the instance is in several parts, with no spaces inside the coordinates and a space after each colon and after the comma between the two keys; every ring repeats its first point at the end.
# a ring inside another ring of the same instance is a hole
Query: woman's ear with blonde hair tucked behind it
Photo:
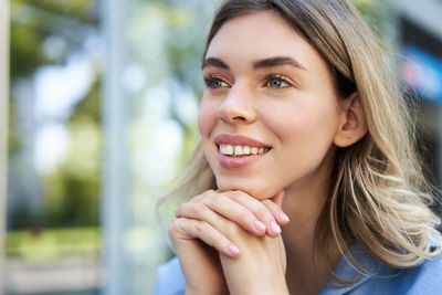
{"type": "Polygon", "coordinates": [[[348,147],[367,134],[367,120],[359,96],[356,92],[339,102],[340,123],[334,138],[338,147],[348,147]]]}

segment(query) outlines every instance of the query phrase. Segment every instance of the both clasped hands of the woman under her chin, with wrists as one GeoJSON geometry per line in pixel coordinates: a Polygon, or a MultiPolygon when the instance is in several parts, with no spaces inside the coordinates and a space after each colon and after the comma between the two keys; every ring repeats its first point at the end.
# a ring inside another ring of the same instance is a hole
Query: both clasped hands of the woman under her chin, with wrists
{"type": "Polygon", "coordinates": [[[239,190],[208,190],[180,204],[169,236],[186,294],[288,294],[283,198],[284,191],[259,201],[239,190]]]}

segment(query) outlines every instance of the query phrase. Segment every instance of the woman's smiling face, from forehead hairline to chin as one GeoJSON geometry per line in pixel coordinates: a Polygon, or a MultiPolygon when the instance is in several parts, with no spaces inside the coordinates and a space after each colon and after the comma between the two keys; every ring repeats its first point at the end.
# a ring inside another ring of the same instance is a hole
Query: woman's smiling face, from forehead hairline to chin
{"type": "Polygon", "coordinates": [[[266,199],[318,183],[341,115],[330,70],[302,34],[270,11],[232,19],[203,76],[199,129],[221,191],[266,199]]]}

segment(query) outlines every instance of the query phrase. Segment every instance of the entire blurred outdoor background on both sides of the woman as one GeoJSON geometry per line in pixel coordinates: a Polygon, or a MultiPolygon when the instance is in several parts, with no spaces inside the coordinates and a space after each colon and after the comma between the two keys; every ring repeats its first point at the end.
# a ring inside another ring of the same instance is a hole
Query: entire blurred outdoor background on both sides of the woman
{"type": "MultiPolygon", "coordinates": [[[[4,294],[151,292],[172,255],[156,203],[198,141],[200,61],[220,2],[10,1],[4,294]]],[[[440,186],[442,1],[352,2],[399,49],[440,186]]]]}

